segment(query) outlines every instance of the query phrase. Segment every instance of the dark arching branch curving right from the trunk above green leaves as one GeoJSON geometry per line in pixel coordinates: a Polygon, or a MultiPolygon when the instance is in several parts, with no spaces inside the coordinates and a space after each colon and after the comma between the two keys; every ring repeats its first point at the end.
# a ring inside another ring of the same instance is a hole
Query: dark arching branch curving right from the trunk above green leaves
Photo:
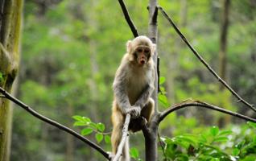
{"type": "Polygon", "coordinates": [[[246,121],[256,122],[256,119],[254,119],[254,118],[250,118],[250,117],[242,115],[242,114],[237,114],[237,113],[234,113],[234,112],[229,111],[227,109],[222,109],[221,107],[218,107],[216,105],[210,105],[210,104],[205,103],[203,101],[195,101],[195,100],[183,101],[179,104],[172,105],[170,108],[165,109],[162,113],[160,113],[158,121],[162,122],[163,119],[165,117],[167,117],[168,114],[171,114],[173,111],[175,111],[177,109],[183,109],[185,107],[195,107],[195,106],[196,107],[204,107],[206,109],[213,109],[213,110],[219,111],[219,112],[224,113],[224,114],[229,114],[229,115],[237,117],[237,118],[242,118],[246,121]]]}

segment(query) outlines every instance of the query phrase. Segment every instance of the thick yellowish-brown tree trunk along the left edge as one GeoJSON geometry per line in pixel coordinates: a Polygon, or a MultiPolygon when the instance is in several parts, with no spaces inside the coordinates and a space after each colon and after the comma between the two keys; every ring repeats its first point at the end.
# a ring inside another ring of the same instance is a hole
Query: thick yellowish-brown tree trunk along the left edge
{"type": "MultiPolygon", "coordinates": [[[[10,92],[19,64],[23,0],[2,0],[0,7],[0,86],[10,92]]],[[[0,98],[0,161],[10,159],[11,118],[9,101],[0,98]]]]}

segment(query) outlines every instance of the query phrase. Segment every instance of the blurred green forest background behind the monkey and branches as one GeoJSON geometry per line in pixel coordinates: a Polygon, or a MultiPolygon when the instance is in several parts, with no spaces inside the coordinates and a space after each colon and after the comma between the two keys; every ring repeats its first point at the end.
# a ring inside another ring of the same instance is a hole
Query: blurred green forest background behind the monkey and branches
{"type": "MultiPolygon", "coordinates": [[[[139,33],[147,35],[147,1],[125,2],[139,33]]],[[[222,1],[159,0],[159,5],[214,70],[221,71],[222,1]]],[[[126,52],[126,41],[133,39],[118,1],[26,0],[23,10],[19,99],[77,131],[81,129],[72,126],[76,114],[103,122],[111,131],[114,73],[126,52]]],[[[228,16],[225,81],[246,101],[256,104],[256,1],[231,0],[228,16]]],[[[192,98],[256,117],[220,88],[160,14],[158,27],[160,70],[166,78],[163,86],[170,105],[192,98]]],[[[163,109],[159,105],[159,110],[163,109]]],[[[244,124],[224,114],[190,108],[171,114],[161,124],[160,134],[200,134],[209,126],[220,126],[250,137],[253,133],[243,131],[244,124]]],[[[90,139],[95,141],[93,136],[90,139]]],[[[130,139],[131,147],[142,152],[141,132],[130,139]]],[[[101,146],[110,151],[109,144],[102,142],[101,146]]],[[[102,157],[71,135],[15,107],[10,159],[74,161],[102,157]]]]}

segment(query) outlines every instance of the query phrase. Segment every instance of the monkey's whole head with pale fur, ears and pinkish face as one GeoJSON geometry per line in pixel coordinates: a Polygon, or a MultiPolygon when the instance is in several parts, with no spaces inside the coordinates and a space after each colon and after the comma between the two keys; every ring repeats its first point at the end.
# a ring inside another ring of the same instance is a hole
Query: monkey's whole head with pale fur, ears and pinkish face
{"type": "Polygon", "coordinates": [[[147,64],[155,52],[155,44],[147,36],[140,35],[126,43],[130,61],[136,62],[139,66],[147,64]]]}

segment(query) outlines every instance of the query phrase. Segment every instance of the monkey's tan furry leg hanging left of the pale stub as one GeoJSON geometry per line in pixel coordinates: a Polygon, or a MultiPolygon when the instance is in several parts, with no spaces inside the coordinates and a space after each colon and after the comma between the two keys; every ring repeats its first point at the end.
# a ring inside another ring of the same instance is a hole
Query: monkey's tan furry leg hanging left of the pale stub
{"type": "Polygon", "coordinates": [[[111,134],[111,144],[112,144],[112,152],[114,155],[118,151],[118,145],[122,138],[122,126],[123,126],[123,116],[120,111],[114,110],[112,114],[112,123],[113,123],[113,131],[111,134]]]}

